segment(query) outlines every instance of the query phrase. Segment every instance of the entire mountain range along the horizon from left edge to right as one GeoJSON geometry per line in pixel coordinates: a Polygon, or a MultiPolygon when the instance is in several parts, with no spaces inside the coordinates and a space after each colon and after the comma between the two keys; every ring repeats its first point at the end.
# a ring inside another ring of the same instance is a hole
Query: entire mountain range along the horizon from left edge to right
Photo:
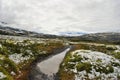
{"type": "Polygon", "coordinates": [[[33,31],[12,28],[5,22],[0,22],[0,34],[12,36],[26,36],[37,38],[67,38],[71,41],[110,42],[120,44],[120,32],[91,33],[83,32],[61,32],[58,35],[37,33],[33,31]]]}

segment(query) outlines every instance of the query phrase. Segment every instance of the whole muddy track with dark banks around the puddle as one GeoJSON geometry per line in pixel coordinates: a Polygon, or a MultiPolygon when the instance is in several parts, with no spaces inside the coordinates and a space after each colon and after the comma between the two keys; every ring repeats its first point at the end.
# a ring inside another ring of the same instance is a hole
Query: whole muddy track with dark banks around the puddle
{"type": "Polygon", "coordinates": [[[58,80],[57,71],[59,65],[71,46],[55,49],[51,55],[43,55],[31,65],[29,80],[58,80]]]}

